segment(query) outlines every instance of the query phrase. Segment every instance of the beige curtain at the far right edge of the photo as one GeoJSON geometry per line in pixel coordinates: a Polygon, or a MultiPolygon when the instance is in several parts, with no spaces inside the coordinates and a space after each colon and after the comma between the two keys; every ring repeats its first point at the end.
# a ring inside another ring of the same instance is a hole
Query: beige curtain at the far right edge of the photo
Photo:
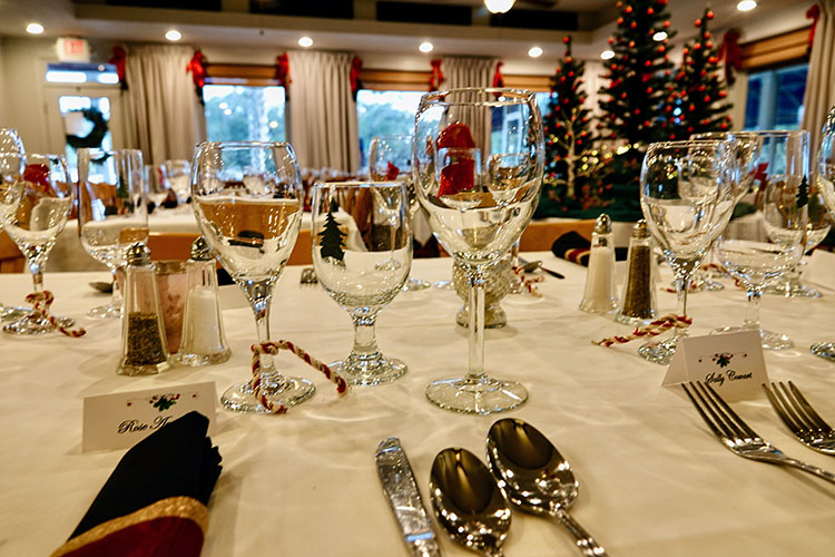
{"type": "Polygon", "coordinates": [[[812,160],[817,157],[826,115],[835,106],[835,0],[819,0],[818,4],[821,19],[817,20],[803,97],[803,129],[808,129],[812,135],[812,160]]]}

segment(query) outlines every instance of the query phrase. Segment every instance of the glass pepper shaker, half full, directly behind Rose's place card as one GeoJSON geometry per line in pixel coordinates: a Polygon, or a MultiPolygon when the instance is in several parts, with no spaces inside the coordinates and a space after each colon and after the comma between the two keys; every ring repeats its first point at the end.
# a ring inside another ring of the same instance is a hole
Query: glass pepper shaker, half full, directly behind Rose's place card
{"type": "Polygon", "coordinates": [[[121,375],[154,375],[171,368],[150,250],[137,242],[127,251],[121,317],[121,375]]]}

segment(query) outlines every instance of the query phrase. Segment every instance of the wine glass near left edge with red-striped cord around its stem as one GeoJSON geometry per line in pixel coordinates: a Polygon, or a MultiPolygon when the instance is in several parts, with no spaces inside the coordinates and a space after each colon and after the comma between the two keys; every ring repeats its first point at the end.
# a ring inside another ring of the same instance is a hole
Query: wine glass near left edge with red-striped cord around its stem
{"type": "MultiPolygon", "coordinates": [[[[9,236],[29,264],[35,293],[43,292],[43,267],[56,237],[72,211],[72,183],[61,155],[0,154],[4,194],[0,211],[9,236]],[[21,172],[22,168],[22,172],[21,172]],[[12,172],[7,173],[7,169],[12,172]]],[[[71,326],[73,321],[60,320],[71,326]]],[[[3,331],[32,335],[52,332],[57,326],[39,312],[8,323],[3,331]]]]}

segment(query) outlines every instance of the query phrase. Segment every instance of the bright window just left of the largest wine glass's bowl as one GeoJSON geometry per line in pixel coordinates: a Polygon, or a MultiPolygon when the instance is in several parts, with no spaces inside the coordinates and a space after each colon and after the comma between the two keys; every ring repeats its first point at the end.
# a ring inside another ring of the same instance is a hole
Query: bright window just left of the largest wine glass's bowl
{"type": "Polygon", "coordinates": [[[367,165],[369,147],[374,136],[412,135],[414,115],[424,91],[377,91],[361,89],[356,95],[356,120],[360,128],[361,166],[367,165]]]}

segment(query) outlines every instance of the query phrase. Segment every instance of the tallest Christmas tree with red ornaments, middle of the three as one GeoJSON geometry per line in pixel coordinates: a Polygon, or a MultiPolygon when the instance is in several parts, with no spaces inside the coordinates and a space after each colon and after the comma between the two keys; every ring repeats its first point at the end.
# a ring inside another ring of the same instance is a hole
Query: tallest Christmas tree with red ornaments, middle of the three
{"type": "Polygon", "coordinates": [[[667,0],[626,0],[617,4],[620,16],[609,39],[613,56],[605,63],[609,87],[600,89],[609,99],[600,102],[602,127],[608,138],[629,146],[675,139],[672,89],[668,40],[667,0]]]}

